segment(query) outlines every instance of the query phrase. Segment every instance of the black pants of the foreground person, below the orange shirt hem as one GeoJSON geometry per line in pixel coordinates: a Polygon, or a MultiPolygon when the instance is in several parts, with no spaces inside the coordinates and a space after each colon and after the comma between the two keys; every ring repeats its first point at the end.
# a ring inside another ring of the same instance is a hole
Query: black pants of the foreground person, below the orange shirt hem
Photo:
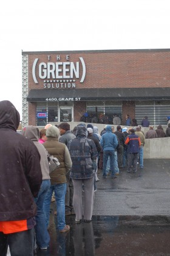
{"type": "Polygon", "coordinates": [[[33,229],[4,234],[0,232],[0,255],[6,256],[8,246],[11,256],[33,256],[34,236],[33,229]]]}

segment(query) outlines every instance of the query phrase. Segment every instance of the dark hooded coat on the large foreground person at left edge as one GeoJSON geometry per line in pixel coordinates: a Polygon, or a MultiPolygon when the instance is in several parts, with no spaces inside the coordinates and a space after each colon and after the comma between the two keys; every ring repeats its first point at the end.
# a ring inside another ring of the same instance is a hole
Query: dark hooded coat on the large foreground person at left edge
{"type": "Polygon", "coordinates": [[[19,112],[8,100],[0,102],[0,221],[27,220],[36,215],[42,182],[40,156],[32,140],[16,129],[19,112]]]}

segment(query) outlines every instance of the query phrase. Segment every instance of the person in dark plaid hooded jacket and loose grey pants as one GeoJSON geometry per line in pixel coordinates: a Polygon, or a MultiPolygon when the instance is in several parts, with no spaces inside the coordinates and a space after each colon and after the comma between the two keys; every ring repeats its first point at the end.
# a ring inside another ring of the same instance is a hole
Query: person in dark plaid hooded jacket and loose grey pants
{"type": "Polygon", "coordinates": [[[68,148],[72,158],[70,178],[73,181],[73,208],[75,222],[80,223],[92,220],[94,206],[94,176],[97,159],[97,148],[91,139],[86,138],[87,129],[77,126],[76,138],[69,141],[68,148]],[[84,184],[84,212],[82,204],[82,186],[84,184]]]}

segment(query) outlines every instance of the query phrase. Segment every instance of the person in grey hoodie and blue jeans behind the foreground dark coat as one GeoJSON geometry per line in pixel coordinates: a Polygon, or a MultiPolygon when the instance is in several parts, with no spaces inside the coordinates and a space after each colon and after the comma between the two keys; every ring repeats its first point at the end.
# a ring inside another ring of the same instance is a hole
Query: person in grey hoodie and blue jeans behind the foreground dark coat
{"type": "Polygon", "coordinates": [[[37,214],[35,217],[36,226],[35,226],[35,235],[36,235],[36,244],[40,249],[47,249],[50,242],[49,232],[47,231],[46,218],[43,212],[43,204],[46,198],[47,191],[50,188],[50,175],[49,175],[49,163],[47,160],[46,150],[42,144],[38,142],[40,131],[38,127],[29,125],[24,129],[23,135],[28,139],[33,141],[33,144],[38,149],[38,152],[41,156],[40,165],[42,172],[42,183],[38,193],[38,196],[35,198],[37,206],[37,214]]]}

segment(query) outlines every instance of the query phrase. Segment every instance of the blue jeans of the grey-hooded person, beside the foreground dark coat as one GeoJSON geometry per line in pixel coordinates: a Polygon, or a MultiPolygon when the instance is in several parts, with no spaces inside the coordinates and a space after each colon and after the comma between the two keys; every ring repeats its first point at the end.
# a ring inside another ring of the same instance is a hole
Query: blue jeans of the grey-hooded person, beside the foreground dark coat
{"type": "Polygon", "coordinates": [[[46,198],[49,188],[50,179],[43,180],[39,189],[38,197],[34,199],[37,206],[37,213],[35,216],[36,244],[38,244],[40,248],[49,246],[50,242],[50,236],[46,226],[46,215],[43,210],[44,200],[46,198]]]}

